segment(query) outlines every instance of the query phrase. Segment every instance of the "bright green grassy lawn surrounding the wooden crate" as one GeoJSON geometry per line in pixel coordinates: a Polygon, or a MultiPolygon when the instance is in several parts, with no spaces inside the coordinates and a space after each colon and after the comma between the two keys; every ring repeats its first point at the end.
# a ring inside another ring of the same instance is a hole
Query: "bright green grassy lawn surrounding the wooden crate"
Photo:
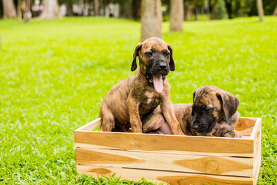
{"type": "MultiPolygon", "coordinates": [[[[163,39],[174,51],[172,103],[215,85],[262,117],[259,184],[277,184],[277,17],[185,22],[163,39]]],[[[0,184],[117,184],[75,172],[73,130],[98,118],[100,103],[132,76],[139,22],[64,18],[0,21],[0,184]]],[[[121,181],[129,184],[128,181],[121,181]]]]}

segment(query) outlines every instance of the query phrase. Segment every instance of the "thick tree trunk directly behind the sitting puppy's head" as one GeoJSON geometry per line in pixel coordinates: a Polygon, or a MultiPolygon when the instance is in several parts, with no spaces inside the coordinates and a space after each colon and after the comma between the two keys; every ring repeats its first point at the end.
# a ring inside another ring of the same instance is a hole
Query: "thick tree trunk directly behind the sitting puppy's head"
{"type": "Polygon", "coordinates": [[[161,0],[141,1],[141,41],[161,37],[161,0]]]}

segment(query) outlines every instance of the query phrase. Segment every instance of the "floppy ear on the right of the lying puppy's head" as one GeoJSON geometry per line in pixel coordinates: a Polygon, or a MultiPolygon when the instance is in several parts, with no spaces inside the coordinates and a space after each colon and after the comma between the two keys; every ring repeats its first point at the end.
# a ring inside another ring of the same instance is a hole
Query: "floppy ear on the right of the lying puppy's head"
{"type": "Polygon", "coordinates": [[[224,111],[226,121],[227,123],[229,123],[233,114],[237,112],[240,101],[238,100],[238,98],[235,98],[235,96],[229,94],[226,91],[222,91],[220,93],[217,93],[216,95],[217,98],[222,102],[222,109],[224,111]]]}

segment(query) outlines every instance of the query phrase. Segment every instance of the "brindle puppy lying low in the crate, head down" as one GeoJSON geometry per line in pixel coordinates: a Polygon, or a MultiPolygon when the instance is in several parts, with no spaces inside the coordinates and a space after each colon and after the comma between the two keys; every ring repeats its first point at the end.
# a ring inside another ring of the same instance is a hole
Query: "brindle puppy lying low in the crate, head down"
{"type": "MultiPolygon", "coordinates": [[[[193,103],[174,104],[175,115],[186,135],[241,137],[235,131],[238,98],[212,85],[193,93],[193,103]]],[[[143,120],[143,132],[170,134],[159,107],[143,120]]]]}

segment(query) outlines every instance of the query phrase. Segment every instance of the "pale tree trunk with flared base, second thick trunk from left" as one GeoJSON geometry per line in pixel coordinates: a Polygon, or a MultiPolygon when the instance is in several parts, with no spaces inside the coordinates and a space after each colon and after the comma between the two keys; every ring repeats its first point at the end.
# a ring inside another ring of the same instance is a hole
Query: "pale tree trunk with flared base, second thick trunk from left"
{"type": "Polygon", "coordinates": [[[44,10],[39,19],[54,19],[61,17],[57,0],[44,0],[44,10]]]}

